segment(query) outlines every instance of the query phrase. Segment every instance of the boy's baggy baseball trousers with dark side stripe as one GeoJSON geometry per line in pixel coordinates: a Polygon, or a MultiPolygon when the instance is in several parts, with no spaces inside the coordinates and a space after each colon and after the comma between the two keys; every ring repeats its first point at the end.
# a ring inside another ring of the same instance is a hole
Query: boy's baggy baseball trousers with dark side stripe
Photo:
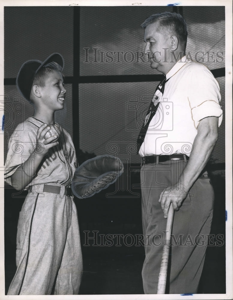
{"type": "Polygon", "coordinates": [[[76,206],[71,197],[28,193],[19,215],[16,274],[8,295],[76,295],[82,253],[76,206]]]}

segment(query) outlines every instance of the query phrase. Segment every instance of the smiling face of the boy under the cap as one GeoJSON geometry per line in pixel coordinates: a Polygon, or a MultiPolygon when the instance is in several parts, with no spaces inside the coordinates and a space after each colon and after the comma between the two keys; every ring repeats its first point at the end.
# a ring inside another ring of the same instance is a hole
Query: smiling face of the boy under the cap
{"type": "Polygon", "coordinates": [[[64,108],[64,100],[66,89],[64,88],[63,78],[60,72],[53,71],[47,74],[45,85],[40,87],[41,101],[49,112],[62,110],[64,108]]]}

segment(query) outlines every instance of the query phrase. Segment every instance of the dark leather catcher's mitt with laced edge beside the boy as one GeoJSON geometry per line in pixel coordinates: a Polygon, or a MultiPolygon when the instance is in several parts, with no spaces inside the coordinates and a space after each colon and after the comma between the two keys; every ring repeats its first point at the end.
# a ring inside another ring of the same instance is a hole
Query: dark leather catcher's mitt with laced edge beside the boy
{"type": "Polygon", "coordinates": [[[73,194],[80,199],[91,197],[115,182],[123,170],[122,161],[112,155],[88,159],[74,173],[73,194]]]}

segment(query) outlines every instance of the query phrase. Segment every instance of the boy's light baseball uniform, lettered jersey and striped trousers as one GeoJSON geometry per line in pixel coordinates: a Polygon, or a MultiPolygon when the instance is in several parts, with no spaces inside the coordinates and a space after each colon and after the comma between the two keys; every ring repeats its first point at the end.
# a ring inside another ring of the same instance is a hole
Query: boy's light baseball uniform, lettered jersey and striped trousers
{"type": "MultiPolygon", "coordinates": [[[[43,122],[29,117],[10,137],[4,174],[9,184],[10,176],[36,146],[41,125],[43,122]]],[[[17,228],[17,270],[8,295],[49,295],[53,288],[54,294],[59,295],[79,291],[82,276],[79,224],[73,196],[65,192],[76,170],[76,154],[70,135],[58,127],[59,144],[45,155],[27,187],[29,192],[17,228]],[[53,189],[56,191],[52,192],[53,189]]]]}

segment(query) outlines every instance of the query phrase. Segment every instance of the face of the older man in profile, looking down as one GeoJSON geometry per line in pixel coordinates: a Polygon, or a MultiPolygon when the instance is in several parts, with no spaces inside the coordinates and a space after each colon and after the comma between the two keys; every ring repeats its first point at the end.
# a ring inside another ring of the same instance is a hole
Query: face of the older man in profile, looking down
{"type": "Polygon", "coordinates": [[[152,69],[166,74],[171,55],[170,35],[158,32],[157,27],[157,22],[154,22],[145,28],[144,41],[146,46],[144,53],[149,56],[152,69]]]}

